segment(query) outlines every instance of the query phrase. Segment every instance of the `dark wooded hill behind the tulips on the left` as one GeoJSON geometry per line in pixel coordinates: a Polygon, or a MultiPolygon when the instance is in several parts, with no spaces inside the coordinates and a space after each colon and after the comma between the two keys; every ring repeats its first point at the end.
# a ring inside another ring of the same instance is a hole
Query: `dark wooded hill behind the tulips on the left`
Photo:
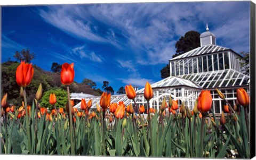
{"type": "MultiPolygon", "coordinates": [[[[1,81],[1,92],[2,95],[7,93],[9,103],[14,105],[20,105],[22,98],[20,97],[20,87],[16,82],[16,69],[20,63],[9,61],[1,63],[2,67],[2,81],[1,81]]],[[[35,97],[37,88],[40,83],[42,83],[43,91],[50,89],[62,88],[66,90],[66,86],[61,84],[60,73],[53,73],[49,71],[44,71],[39,66],[33,65],[34,77],[30,85],[26,87],[27,99],[31,103],[35,97]]],[[[83,83],[73,82],[70,85],[70,92],[83,92],[84,94],[90,94],[94,96],[100,96],[102,91],[100,89],[93,89],[89,85],[83,83]]]]}

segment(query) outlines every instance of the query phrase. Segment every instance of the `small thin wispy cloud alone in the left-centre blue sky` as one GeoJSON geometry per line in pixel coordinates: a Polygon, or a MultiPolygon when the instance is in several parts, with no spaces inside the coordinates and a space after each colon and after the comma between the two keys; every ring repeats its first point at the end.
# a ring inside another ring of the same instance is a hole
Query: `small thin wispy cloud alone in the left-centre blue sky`
{"type": "Polygon", "coordinates": [[[88,58],[89,60],[91,60],[93,62],[101,63],[104,59],[100,55],[97,55],[94,52],[87,50],[85,46],[75,47],[75,48],[71,49],[71,53],[74,53],[74,54],[80,56],[81,58],[88,58]]]}

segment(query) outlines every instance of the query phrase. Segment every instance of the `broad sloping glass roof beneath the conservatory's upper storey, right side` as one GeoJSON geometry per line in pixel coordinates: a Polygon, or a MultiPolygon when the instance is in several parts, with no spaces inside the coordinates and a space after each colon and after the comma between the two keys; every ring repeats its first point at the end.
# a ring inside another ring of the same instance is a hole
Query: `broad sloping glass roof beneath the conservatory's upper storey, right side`
{"type": "Polygon", "coordinates": [[[233,69],[178,75],[196,82],[202,88],[219,88],[249,85],[250,77],[233,69]]]}

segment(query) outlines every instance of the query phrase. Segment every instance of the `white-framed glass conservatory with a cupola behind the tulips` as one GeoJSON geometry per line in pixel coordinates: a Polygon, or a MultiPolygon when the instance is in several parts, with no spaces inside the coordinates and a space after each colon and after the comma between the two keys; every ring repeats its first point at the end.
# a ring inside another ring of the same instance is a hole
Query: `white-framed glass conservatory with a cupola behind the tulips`
{"type": "MultiPolygon", "coordinates": [[[[190,50],[169,60],[170,77],[151,84],[154,96],[150,100],[150,107],[159,109],[162,100],[169,97],[179,101],[179,106],[184,101],[185,105],[193,110],[195,100],[202,89],[211,91],[213,97],[212,109],[214,113],[221,113],[225,104],[218,97],[215,88],[225,94],[231,105],[236,103],[236,89],[243,87],[249,92],[249,75],[245,75],[241,67],[242,55],[234,50],[216,45],[215,35],[206,28],[200,36],[201,47],[190,50]]],[[[146,82],[145,82],[146,83],[146,82]]],[[[143,97],[144,88],[137,91],[135,101],[138,105],[147,105],[143,97]]],[[[100,97],[88,97],[99,104],[100,97]]],[[[125,105],[133,103],[126,95],[111,96],[112,102],[124,101],[125,105]]],[[[79,103],[76,107],[79,107],[79,103]]]]}

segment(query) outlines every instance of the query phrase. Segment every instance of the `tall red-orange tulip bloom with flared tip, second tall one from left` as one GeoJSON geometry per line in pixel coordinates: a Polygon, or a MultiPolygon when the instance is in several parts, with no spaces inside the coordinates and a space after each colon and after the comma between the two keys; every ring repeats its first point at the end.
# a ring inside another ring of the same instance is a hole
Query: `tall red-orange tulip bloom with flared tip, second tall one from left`
{"type": "Polygon", "coordinates": [[[63,85],[71,85],[74,81],[75,71],[74,63],[64,63],[61,66],[60,80],[63,85]]]}

